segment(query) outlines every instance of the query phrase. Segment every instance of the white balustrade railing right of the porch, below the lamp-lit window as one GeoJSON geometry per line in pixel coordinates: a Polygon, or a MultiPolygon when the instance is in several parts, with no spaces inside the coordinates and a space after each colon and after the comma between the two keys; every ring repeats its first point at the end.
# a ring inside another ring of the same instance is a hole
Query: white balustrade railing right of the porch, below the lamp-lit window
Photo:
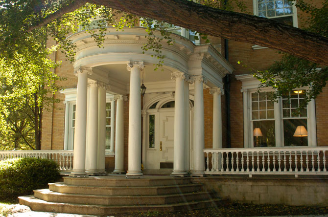
{"type": "Polygon", "coordinates": [[[325,174],[328,147],[204,149],[206,174],[325,174]]]}

